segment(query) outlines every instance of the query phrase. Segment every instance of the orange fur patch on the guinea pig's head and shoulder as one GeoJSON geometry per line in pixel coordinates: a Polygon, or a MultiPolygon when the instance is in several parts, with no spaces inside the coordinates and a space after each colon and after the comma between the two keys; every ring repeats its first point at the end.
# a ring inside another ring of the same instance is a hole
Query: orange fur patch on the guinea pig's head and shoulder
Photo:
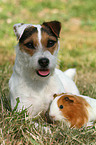
{"type": "Polygon", "coordinates": [[[82,97],[64,94],[57,101],[58,107],[63,105],[62,114],[70,122],[70,127],[81,128],[88,121],[89,104],[82,97]]]}

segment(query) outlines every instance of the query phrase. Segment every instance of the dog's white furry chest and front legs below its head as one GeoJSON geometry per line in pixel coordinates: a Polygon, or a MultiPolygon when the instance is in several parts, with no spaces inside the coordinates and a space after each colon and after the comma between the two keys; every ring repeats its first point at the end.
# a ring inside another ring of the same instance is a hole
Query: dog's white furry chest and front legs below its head
{"type": "Polygon", "coordinates": [[[14,99],[11,98],[12,106],[15,106],[15,99],[19,97],[18,109],[28,108],[32,105],[33,108],[29,108],[29,112],[33,110],[33,115],[39,111],[47,110],[50,101],[53,99],[53,94],[64,92],[63,85],[56,75],[50,77],[47,81],[25,81],[13,77],[10,85],[12,96],[14,96],[14,99]]]}

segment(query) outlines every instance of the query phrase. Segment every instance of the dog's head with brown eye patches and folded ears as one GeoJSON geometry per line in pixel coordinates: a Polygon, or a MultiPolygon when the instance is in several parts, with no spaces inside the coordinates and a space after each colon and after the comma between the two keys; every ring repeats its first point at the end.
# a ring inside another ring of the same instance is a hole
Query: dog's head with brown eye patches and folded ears
{"type": "Polygon", "coordinates": [[[61,23],[58,21],[44,22],[42,25],[14,25],[15,35],[19,40],[17,59],[22,66],[34,73],[34,77],[47,77],[54,72],[60,30],[61,23]]]}

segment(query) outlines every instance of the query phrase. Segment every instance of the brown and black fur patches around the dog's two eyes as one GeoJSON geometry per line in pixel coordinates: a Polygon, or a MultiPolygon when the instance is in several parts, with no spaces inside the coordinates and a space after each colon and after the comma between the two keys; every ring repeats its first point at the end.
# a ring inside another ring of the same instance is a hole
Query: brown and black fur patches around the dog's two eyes
{"type": "MultiPolygon", "coordinates": [[[[51,54],[54,54],[55,50],[58,49],[58,39],[57,37],[51,32],[50,28],[42,25],[41,28],[41,44],[43,51],[50,51],[51,54]],[[48,47],[48,42],[53,41],[54,45],[48,47]]],[[[31,56],[39,49],[39,41],[38,41],[38,31],[35,27],[26,28],[24,34],[19,40],[19,46],[21,51],[25,51],[26,53],[30,54],[31,56]],[[34,49],[30,49],[26,47],[26,44],[32,42],[34,49]]]]}

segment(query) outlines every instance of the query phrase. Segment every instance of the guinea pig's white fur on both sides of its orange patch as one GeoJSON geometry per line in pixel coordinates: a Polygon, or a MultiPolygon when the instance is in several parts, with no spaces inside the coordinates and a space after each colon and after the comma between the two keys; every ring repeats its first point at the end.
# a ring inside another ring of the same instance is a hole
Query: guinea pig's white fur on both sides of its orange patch
{"type": "MultiPolygon", "coordinates": [[[[84,98],[89,106],[86,108],[88,111],[88,122],[87,126],[92,125],[94,121],[96,121],[96,99],[90,98],[88,96],[79,95],[80,97],[84,98]]],[[[54,116],[54,120],[64,121],[69,127],[70,123],[66,120],[63,113],[60,111],[57,101],[62,97],[62,95],[57,96],[50,105],[49,116],[52,118],[54,116]]],[[[86,124],[84,124],[86,125],[86,124]]]]}

